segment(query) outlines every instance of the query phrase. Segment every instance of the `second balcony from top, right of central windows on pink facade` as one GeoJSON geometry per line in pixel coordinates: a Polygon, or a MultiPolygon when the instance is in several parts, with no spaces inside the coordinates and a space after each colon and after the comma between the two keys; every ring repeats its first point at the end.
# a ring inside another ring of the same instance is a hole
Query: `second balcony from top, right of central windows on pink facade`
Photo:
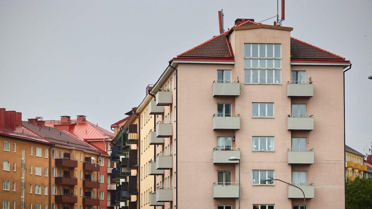
{"type": "Polygon", "coordinates": [[[312,115],[288,115],[287,129],[312,131],[314,130],[314,118],[312,115]]]}

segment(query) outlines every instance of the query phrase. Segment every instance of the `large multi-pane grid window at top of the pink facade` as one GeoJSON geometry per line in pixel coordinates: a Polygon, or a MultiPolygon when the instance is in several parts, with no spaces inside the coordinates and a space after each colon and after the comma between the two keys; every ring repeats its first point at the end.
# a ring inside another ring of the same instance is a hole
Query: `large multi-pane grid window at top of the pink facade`
{"type": "Polygon", "coordinates": [[[244,83],[282,83],[281,44],[244,44],[244,83]]]}

